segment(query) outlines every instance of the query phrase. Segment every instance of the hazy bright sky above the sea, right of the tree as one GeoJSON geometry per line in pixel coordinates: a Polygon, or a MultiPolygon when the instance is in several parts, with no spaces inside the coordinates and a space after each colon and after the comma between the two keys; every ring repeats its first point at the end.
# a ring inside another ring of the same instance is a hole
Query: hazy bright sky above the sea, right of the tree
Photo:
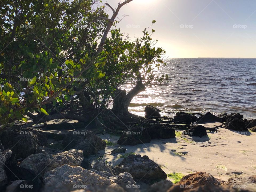
{"type": "MultiPolygon", "coordinates": [[[[119,1],[103,0],[114,9],[119,1]]],[[[256,57],[255,0],[133,0],[123,14],[117,26],[131,37],[155,19],[152,38],[169,57],[256,57]]]]}

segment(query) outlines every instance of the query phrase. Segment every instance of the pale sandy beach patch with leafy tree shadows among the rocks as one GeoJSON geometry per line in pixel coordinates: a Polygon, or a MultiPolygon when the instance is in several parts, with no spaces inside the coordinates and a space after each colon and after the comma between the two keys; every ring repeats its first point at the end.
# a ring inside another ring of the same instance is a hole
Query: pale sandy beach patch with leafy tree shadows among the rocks
{"type": "MultiPolygon", "coordinates": [[[[218,124],[202,125],[214,127],[218,124]]],[[[150,143],[124,146],[126,154],[147,155],[167,174],[187,175],[196,171],[205,171],[224,181],[233,176],[256,175],[256,133],[249,131],[235,133],[220,128],[218,133],[207,131],[208,136],[192,138],[182,135],[182,131],[178,132],[176,138],[153,139],[150,143]]],[[[119,139],[119,136],[109,134],[99,134],[98,136],[112,143],[117,143],[119,139]]],[[[106,149],[99,151],[100,154],[96,156],[105,154],[104,158],[107,162],[115,166],[123,159],[119,154],[111,155],[111,150],[118,146],[118,144],[107,145],[106,149]]],[[[95,156],[91,156],[90,160],[95,158],[95,156]]]]}

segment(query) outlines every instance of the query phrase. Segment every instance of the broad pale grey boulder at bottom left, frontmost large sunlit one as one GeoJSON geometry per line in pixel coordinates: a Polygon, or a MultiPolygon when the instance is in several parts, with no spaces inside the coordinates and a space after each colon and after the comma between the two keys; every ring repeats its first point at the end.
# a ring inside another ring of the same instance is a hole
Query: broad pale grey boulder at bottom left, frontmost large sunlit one
{"type": "Polygon", "coordinates": [[[62,165],[43,176],[45,186],[73,187],[74,185],[111,185],[110,179],[80,166],[62,165]]]}

